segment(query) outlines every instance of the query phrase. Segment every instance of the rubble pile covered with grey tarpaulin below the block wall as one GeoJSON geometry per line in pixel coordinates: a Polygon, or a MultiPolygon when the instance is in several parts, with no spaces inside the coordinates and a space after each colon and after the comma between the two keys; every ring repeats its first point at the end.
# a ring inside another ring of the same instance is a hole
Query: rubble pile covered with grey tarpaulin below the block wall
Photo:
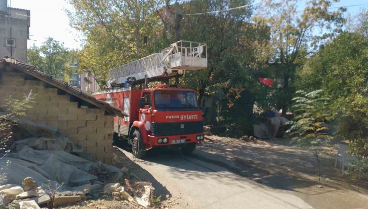
{"type": "Polygon", "coordinates": [[[154,190],[150,183],[133,183],[129,191],[111,183],[121,182],[126,169],[87,160],[83,147],[66,137],[18,140],[13,150],[0,158],[0,176],[5,177],[0,186],[0,209],[14,205],[20,209],[52,208],[97,198],[101,193],[150,205],[154,190]]]}

